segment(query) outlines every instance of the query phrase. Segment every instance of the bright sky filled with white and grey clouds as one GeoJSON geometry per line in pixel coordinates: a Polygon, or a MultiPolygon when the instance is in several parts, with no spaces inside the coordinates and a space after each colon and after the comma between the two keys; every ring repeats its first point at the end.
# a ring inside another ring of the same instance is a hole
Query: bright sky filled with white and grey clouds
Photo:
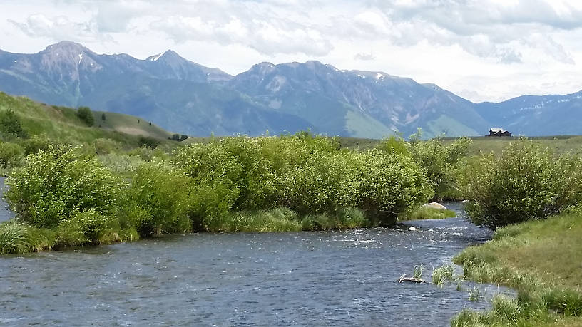
{"type": "Polygon", "coordinates": [[[172,49],[233,75],[317,60],[474,102],[582,90],[579,0],[0,1],[0,49],[64,40],[140,59],[172,49]]]}

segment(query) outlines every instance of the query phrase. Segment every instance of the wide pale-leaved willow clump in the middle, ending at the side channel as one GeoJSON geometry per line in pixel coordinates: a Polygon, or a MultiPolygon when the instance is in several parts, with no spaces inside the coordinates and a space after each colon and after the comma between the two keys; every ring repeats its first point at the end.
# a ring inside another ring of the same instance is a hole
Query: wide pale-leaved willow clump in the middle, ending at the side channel
{"type": "MultiPolygon", "coordinates": [[[[207,185],[225,196],[223,211],[288,207],[305,215],[357,207],[377,224],[389,224],[433,194],[426,170],[411,157],[340,150],[335,139],[303,133],[190,145],[178,150],[174,163],[196,187],[207,185]]],[[[216,202],[208,190],[195,196],[216,202]]],[[[213,212],[206,206],[193,210],[193,220],[203,221],[206,209],[213,212]]]]}

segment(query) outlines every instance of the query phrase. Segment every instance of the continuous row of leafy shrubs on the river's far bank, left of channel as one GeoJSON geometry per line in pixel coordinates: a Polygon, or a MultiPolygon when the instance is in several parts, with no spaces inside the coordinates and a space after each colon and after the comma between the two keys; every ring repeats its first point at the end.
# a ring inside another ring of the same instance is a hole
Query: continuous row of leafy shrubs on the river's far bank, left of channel
{"type": "Polygon", "coordinates": [[[8,179],[18,222],[0,225],[0,234],[18,229],[16,239],[31,240],[29,231],[43,230],[40,248],[51,248],[176,232],[384,226],[434,192],[408,155],[342,150],[305,133],[155,151],[136,152],[145,160],[130,155],[121,168],[66,145],[29,155],[8,179]]]}

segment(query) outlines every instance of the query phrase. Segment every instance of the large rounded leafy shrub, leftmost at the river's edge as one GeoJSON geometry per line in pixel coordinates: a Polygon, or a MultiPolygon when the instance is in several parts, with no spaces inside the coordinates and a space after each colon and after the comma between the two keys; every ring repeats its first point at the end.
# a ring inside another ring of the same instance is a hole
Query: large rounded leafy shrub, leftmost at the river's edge
{"type": "Polygon", "coordinates": [[[7,180],[6,200],[23,222],[56,227],[76,212],[118,208],[125,182],[77,148],[54,147],[29,155],[7,180]]]}

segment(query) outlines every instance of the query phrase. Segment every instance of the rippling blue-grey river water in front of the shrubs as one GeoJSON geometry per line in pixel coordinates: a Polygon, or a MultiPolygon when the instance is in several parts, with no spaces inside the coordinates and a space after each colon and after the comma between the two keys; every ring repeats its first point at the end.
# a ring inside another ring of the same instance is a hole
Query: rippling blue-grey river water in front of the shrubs
{"type": "Polygon", "coordinates": [[[469,301],[456,284],[399,284],[399,276],[424,264],[430,279],[432,266],[489,235],[458,217],[1,256],[0,325],[449,326],[462,308],[487,301],[469,301]]]}

